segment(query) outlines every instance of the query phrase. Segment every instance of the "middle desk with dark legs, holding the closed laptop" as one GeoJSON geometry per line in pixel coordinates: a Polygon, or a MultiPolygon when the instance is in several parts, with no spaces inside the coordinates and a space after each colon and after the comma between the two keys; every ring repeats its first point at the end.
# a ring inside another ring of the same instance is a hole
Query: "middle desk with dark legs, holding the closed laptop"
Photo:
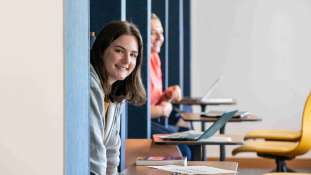
{"type": "MultiPolygon", "coordinates": [[[[185,121],[190,122],[202,122],[202,131],[205,131],[205,123],[206,122],[215,122],[218,120],[218,117],[201,117],[200,113],[181,113],[181,117],[185,121]]],[[[232,118],[229,120],[229,122],[259,122],[261,121],[261,118],[250,114],[244,118],[232,118]]],[[[220,134],[225,134],[225,125],[220,129],[220,134]]],[[[205,157],[205,148],[202,150],[203,152],[203,158],[205,157]]],[[[225,145],[220,145],[220,161],[225,161],[225,145]]]]}

